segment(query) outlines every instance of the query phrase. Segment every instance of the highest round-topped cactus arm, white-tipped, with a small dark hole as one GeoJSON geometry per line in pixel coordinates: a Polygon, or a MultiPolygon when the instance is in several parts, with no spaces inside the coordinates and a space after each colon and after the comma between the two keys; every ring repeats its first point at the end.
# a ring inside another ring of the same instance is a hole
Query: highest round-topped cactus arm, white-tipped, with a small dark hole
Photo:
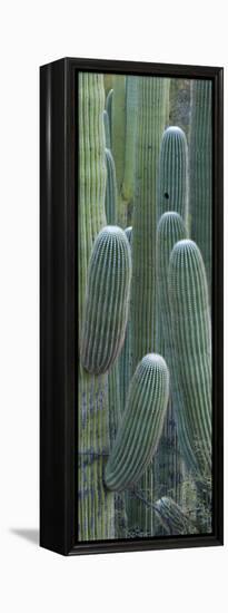
{"type": "Polygon", "coordinates": [[[187,225],[188,146],[181,128],[163,133],[159,158],[158,221],[166,211],[177,211],[187,225]]]}

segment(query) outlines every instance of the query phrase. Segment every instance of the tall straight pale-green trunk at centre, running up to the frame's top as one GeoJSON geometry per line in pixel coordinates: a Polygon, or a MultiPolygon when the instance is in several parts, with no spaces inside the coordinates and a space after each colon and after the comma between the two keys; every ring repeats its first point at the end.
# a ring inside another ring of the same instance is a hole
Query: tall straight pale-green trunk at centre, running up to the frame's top
{"type": "MultiPolygon", "coordinates": [[[[142,357],[156,350],[156,195],[161,136],[167,119],[169,79],[138,77],[137,159],[132,235],[131,338],[132,372],[142,357]]],[[[139,489],[152,492],[149,467],[139,489]]],[[[152,513],[140,499],[128,509],[130,524],[151,534],[152,513]]]]}

